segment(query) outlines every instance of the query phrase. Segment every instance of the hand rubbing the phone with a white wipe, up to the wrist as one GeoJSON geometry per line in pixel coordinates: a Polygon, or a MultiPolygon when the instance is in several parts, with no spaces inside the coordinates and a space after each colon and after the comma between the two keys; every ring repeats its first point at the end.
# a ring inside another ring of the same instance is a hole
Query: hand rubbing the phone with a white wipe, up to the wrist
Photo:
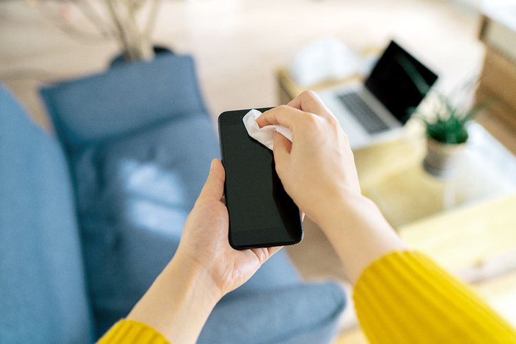
{"type": "Polygon", "coordinates": [[[350,142],[315,92],[265,111],[257,123],[292,131],[292,142],[275,133],[276,171],[292,200],[315,222],[334,202],[361,197],[350,142]]]}

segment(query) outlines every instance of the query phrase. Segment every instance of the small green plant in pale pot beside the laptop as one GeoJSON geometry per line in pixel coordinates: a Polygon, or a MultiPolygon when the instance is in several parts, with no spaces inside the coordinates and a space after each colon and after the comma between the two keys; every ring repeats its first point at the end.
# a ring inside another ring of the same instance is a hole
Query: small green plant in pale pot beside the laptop
{"type": "Polygon", "coordinates": [[[469,138],[467,125],[482,109],[453,105],[445,96],[438,95],[433,113],[418,116],[424,123],[427,136],[427,155],[423,160],[425,171],[440,178],[453,177],[458,173],[462,151],[469,138]]]}

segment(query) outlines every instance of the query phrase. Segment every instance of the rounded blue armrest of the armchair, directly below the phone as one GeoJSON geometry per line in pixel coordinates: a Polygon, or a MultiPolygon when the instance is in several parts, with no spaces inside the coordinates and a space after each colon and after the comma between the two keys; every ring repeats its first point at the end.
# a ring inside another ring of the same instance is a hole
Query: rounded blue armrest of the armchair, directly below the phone
{"type": "Polygon", "coordinates": [[[198,343],[330,343],[345,297],[334,282],[297,284],[221,301],[198,343]]]}

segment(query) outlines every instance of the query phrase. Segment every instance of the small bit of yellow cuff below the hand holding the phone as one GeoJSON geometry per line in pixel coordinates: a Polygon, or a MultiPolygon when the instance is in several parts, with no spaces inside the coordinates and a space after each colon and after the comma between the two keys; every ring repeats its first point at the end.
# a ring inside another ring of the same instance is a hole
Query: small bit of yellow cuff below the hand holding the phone
{"type": "Polygon", "coordinates": [[[97,342],[99,344],[169,344],[160,332],[133,320],[120,320],[97,342]]]}

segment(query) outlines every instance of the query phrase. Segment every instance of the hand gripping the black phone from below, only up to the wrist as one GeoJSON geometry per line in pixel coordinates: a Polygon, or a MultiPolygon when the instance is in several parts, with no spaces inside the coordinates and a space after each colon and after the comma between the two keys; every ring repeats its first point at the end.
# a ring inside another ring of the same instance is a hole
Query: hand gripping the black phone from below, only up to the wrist
{"type": "Polygon", "coordinates": [[[220,297],[244,284],[281,247],[235,250],[229,245],[228,209],[222,200],[226,173],[220,160],[210,174],[184,225],[176,255],[195,261],[211,276],[220,297]]]}

